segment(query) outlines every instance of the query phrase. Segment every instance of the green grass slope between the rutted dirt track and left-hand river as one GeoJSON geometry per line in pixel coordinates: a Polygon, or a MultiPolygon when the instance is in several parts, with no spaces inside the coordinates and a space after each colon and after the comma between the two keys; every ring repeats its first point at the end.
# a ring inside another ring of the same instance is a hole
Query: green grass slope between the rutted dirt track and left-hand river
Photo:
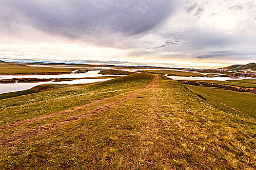
{"type": "Polygon", "coordinates": [[[1,100],[0,125],[55,113],[128,90],[141,88],[151,81],[152,75],[146,74],[142,78],[141,76],[143,74],[91,85],[61,85],[54,90],[1,100]]]}

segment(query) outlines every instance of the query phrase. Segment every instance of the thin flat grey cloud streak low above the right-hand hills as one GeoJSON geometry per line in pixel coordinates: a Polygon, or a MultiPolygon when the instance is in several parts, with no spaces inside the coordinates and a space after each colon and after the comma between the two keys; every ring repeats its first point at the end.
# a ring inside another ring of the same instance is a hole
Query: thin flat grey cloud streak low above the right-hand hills
{"type": "Polygon", "coordinates": [[[207,55],[198,55],[196,58],[212,58],[212,57],[231,57],[231,56],[247,56],[256,55],[256,52],[236,52],[236,51],[213,51],[207,55]]]}

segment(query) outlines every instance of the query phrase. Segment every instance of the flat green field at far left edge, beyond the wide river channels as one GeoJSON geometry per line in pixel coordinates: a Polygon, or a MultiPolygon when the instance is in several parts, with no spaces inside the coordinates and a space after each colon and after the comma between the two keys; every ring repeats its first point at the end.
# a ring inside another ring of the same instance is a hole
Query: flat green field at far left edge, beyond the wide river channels
{"type": "Polygon", "coordinates": [[[70,72],[72,68],[46,68],[46,67],[29,67],[15,66],[15,64],[0,65],[0,73],[37,73],[37,72],[70,72]]]}

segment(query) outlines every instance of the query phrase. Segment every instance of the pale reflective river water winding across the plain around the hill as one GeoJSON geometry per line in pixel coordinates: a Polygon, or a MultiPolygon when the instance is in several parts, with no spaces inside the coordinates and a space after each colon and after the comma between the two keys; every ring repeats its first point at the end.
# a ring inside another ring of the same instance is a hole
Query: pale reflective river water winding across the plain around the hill
{"type": "MultiPolygon", "coordinates": [[[[29,65],[29,66],[36,66],[36,67],[64,67],[64,68],[78,68],[76,66],[42,66],[42,65],[29,65]]],[[[100,67],[103,69],[110,69],[109,67],[100,67]]],[[[134,71],[138,72],[138,70],[156,70],[156,69],[122,69],[125,71],[134,71]]],[[[176,69],[170,69],[176,70],[176,69]]],[[[180,71],[180,70],[177,70],[180,71]]],[[[79,74],[58,74],[58,75],[0,75],[0,79],[12,79],[12,78],[38,78],[38,79],[56,79],[56,78],[84,78],[84,77],[106,77],[106,76],[122,76],[122,75],[102,75],[98,74],[99,70],[95,71],[88,71],[86,73],[79,73],[79,74]]],[[[226,80],[242,80],[242,79],[253,79],[250,77],[183,77],[183,76],[167,76],[174,80],[217,80],[217,81],[226,81],[226,80]]],[[[75,85],[75,84],[86,84],[86,83],[95,83],[95,82],[103,82],[110,80],[109,78],[101,78],[101,79],[79,79],[73,81],[63,81],[63,82],[38,82],[38,83],[14,83],[14,84],[0,84],[0,94],[7,93],[7,92],[14,92],[20,90],[30,89],[36,85],[43,85],[43,84],[68,84],[68,85],[75,85]]]]}

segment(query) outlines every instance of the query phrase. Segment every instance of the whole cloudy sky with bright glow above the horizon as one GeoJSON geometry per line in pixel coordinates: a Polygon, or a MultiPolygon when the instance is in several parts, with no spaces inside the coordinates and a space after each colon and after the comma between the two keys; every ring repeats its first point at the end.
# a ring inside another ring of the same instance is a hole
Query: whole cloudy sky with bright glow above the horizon
{"type": "Polygon", "coordinates": [[[248,64],[256,62],[256,0],[0,0],[0,59],[248,64]]]}

